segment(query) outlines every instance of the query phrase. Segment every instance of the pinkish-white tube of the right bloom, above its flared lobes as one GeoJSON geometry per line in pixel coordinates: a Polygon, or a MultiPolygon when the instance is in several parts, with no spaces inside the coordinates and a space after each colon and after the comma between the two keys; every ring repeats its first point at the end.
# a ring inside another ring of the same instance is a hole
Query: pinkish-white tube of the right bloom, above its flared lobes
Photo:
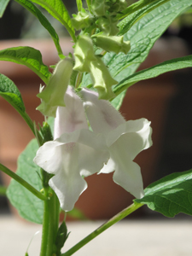
{"type": "Polygon", "coordinates": [[[84,110],[95,132],[108,133],[125,123],[123,116],[105,100],[99,100],[95,91],[83,89],[84,110]]]}

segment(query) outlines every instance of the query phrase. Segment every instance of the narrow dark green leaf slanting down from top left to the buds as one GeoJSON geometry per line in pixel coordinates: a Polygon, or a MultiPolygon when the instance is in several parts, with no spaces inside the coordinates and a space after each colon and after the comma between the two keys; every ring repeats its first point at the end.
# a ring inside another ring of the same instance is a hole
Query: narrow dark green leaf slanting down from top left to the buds
{"type": "Polygon", "coordinates": [[[58,51],[58,54],[62,54],[60,42],[59,42],[59,36],[55,32],[54,27],[49,23],[49,20],[41,13],[41,11],[29,0],[15,0],[15,2],[20,3],[23,7],[25,7],[27,10],[29,10],[32,15],[35,15],[40,23],[44,26],[44,28],[49,32],[51,38],[53,38],[53,41],[55,43],[55,47],[58,51]]]}

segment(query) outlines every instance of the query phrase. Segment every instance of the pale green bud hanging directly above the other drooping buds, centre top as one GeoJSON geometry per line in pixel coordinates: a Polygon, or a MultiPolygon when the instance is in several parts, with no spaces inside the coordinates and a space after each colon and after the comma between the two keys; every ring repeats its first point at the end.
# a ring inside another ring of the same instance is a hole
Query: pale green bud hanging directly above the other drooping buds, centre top
{"type": "Polygon", "coordinates": [[[74,49],[75,66],[73,70],[90,72],[90,61],[96,61],[93,43],[88,36],[79,36],[74,49]]]}

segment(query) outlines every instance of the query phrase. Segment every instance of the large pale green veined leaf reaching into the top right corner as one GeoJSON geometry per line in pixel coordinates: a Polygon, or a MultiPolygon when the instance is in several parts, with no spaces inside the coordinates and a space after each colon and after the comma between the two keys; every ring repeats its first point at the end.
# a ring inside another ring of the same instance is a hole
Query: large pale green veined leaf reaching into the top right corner
{"type": "Polygon", "coordinates": [[[107,53],[102,60],[109,67],[113,78],[121,81],[137,70],[146,59],[155,41],[160,38],[172,20],[192,4],[191,0],[171,0],[160,5],[139,20],[125,34],[125,40],[131,41],[131,50],[127,55],[107,53]]]}

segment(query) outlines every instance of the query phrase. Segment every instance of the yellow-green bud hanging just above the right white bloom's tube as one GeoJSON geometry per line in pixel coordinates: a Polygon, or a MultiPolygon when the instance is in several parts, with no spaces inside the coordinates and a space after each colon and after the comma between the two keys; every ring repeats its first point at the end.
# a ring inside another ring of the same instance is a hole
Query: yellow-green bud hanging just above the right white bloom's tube
{"type": "Polygon", "coordinates": [[[111,87],[118,82],[111,77],[108,67],[100,57],[96,57],[96,61],[90,62],[90,76],[98,91],[99,99],[110,100],[115,96],[111,87]]]}

